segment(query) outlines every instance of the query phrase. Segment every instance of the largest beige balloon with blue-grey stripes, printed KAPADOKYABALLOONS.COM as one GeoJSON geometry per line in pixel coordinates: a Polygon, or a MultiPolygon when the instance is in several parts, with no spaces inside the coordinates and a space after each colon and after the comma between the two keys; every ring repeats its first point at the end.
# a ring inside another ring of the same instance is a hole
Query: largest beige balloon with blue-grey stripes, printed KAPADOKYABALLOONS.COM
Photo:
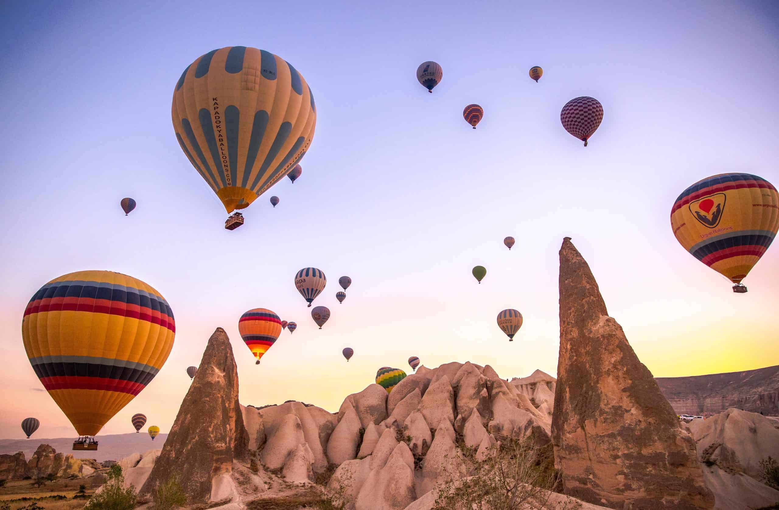
{"type": "Polygon", "coordinates": [[[192,167],[232,213],[305,156],[316,107],[311,88],[290,63],[233,46],[187,66],[174,89],[171,117],[192,167]]]}

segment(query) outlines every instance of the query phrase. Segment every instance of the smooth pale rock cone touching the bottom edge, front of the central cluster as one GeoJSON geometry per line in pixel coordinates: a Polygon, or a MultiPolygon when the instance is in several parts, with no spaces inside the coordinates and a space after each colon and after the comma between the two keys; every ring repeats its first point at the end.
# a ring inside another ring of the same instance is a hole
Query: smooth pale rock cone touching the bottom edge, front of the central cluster
{"type": "Polygon", "coordinates": [[[372,470],[362,485],[355,510],[404,510],[416,499],[414,457],[399,443],[380,470],[372,470]]]}

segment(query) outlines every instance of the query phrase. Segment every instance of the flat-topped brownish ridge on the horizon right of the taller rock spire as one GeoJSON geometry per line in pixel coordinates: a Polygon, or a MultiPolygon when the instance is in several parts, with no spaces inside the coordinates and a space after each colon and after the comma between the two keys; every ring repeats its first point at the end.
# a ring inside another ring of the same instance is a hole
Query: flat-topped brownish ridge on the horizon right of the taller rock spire
{"type": "Polygon", "coordinates": [[[725,374],[657,377],[655,381],[678,414],[720,413],[735,407],[779,416],[779,365],[725,374]]]}

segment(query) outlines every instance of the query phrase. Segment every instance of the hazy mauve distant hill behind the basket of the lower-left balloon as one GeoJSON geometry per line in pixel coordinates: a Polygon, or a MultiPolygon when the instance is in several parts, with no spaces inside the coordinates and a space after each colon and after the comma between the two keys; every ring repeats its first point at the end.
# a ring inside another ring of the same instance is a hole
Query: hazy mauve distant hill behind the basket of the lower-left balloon
{"type": "Polygon", "coordinates": [[[96,459],[101,463],[104,460],[119,460],[131,453],[146,452],[152,448],[162,448],[167,439],[167,434],[159,434],[154,441],[146,433],[133,434],[107,434],[97,436],[100,445],[95,452],[73,452],[74,438],[37,438],[33,435],[30,439],[0,439],[0,454],[23,452],[24,457],[30,460],[38,445],[51,445],[57,452],[72,453],[76,459],[96,459]]]}

